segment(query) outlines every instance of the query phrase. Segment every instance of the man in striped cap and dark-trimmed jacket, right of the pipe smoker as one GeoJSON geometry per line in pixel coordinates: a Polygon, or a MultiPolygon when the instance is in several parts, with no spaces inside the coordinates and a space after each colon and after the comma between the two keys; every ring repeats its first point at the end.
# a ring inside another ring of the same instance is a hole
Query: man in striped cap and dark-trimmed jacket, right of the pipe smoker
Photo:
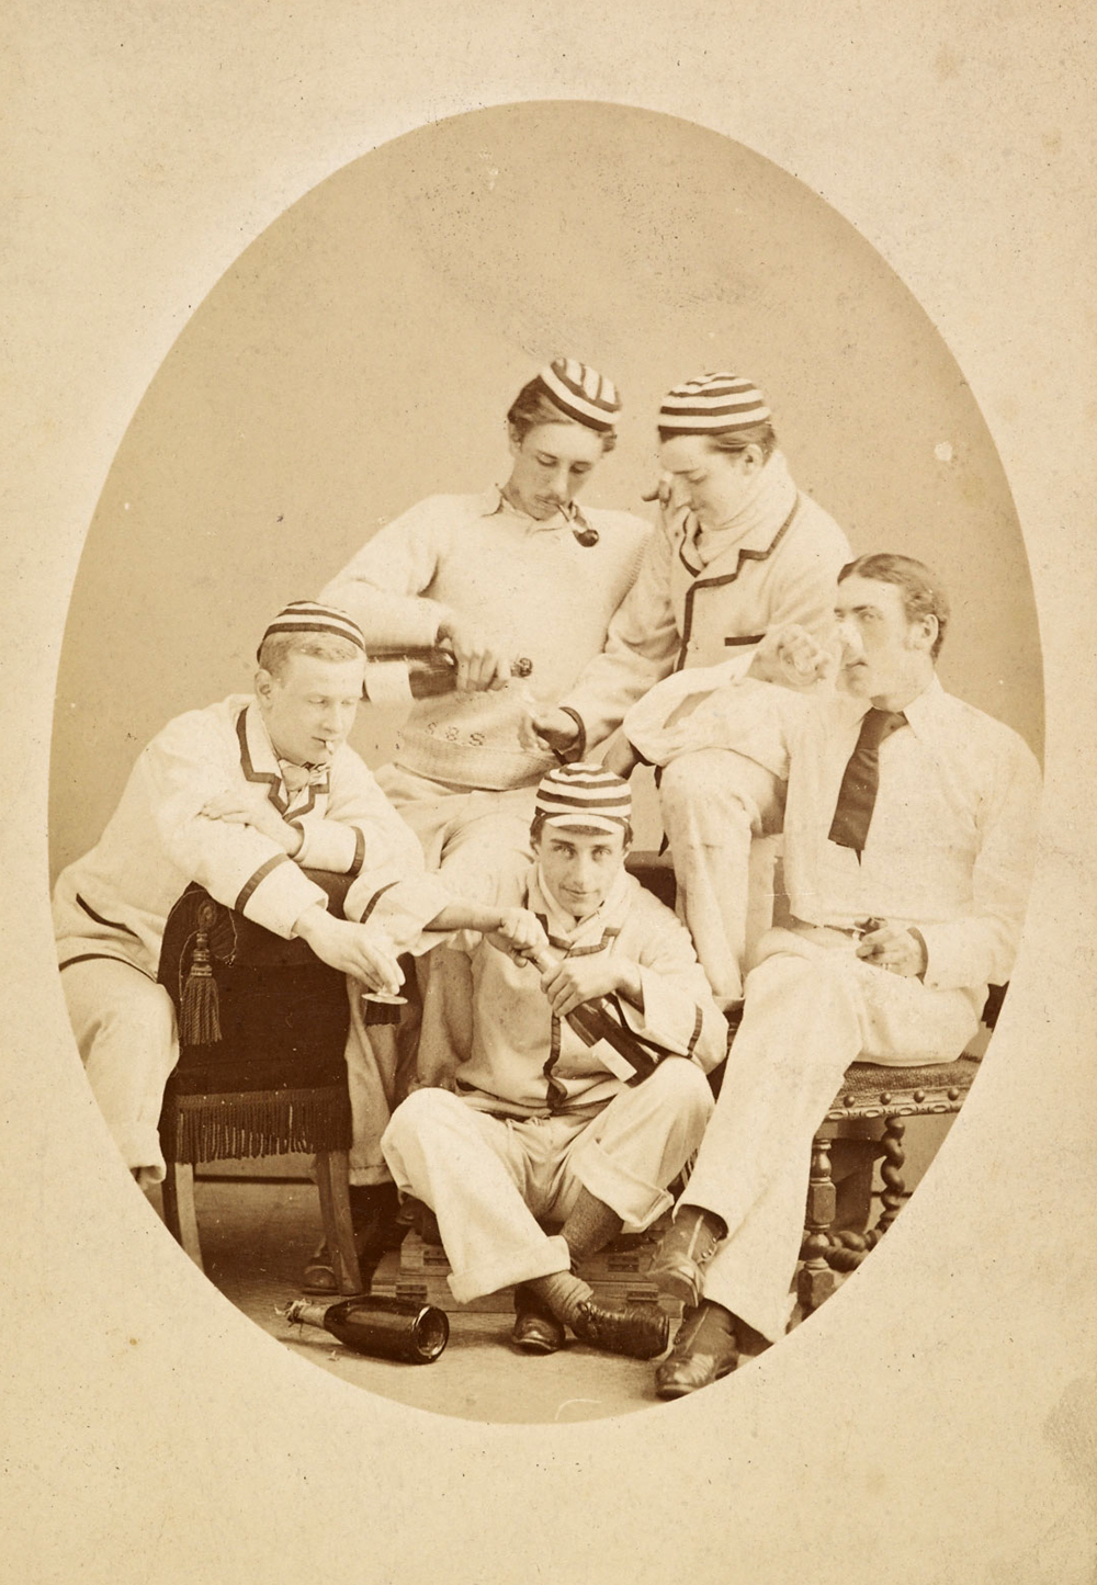
{"type": "MultiPolygon", "coordinates": [[[[704,374],[659,409],[663,520],[606,650],[561,705],[529,731],[575,750],[601,742],[653,683],[685,667],[751,663],[767,629],[832,634],[832,594],[850,560],[845,534],[796,488],[766,398],[736,374],[704,374]],[[569,726],[571,718],[571,726],[569,726]]],[[[628,770],[628,751],[613,764],[628,770]]],[[[753,835],[780,824],[782,788],[766,766],[701,751],[661,781],[663,823],[686,919],[712,989],[742,997],[753,835]]]]}

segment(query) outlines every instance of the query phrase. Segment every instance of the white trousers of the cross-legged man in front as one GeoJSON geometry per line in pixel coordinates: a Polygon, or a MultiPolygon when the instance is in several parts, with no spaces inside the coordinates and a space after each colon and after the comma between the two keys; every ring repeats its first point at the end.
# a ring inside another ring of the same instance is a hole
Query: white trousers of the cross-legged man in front
{"type": "Polygon", "coordinates": [[[610,1206],[626,1232],[669,1208],[666,1186],[696,1151],[712,1113],[701,1068],[667,1057],[607,1106],[556,1117],[499,1119],[442,1089],[420,1089],[382,1140],[403,1194],[438,1217],[460,1303],[514,1282],[568,1271],[563,1224],[580,1189],[610,1206]]]}

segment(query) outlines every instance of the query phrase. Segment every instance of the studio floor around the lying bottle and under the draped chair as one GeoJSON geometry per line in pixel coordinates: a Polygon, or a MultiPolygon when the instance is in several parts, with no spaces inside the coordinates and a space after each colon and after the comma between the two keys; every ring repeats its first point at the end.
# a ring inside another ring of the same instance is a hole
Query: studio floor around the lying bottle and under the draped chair
{"type": "Polygon", "coordinates": [[[652,1363],[574,1339],[560,1354],[518,1354],[509,1344],[514,1317],[503,1308],[450,1312],[450,1341],[433,1365],[366,1358],[325,1331],[290,1327],[277,1311],[300,1297],[319,1241],[312,1184],[200,1179],[195,1198],[206,1276],[285,1347],[357,1387],[434,1414],[512,1423],[593,1420],[659,1403],[652,1363]]]}

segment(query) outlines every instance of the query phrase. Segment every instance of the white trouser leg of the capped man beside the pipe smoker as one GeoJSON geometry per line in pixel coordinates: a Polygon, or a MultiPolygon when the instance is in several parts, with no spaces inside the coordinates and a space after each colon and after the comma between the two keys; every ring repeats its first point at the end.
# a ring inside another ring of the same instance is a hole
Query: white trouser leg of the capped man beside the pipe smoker
{"type": "Polygon", "coordinates": [[[743,994],[751,842],[780,829],[782,800],[770,770],[724,748],[672,759],[659,781],[677,911],[723,1006],[743,994]]]}

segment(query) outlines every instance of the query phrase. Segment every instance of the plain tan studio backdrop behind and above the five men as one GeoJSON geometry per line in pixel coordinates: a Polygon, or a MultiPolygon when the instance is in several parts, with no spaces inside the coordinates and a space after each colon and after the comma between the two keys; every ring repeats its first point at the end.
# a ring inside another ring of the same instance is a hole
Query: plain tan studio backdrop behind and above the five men
{"type": "MultiPolygon", "coordinates": [[[[114,458],[76,577],[54,873],[98,838],[165,721],[250,686],[274,610],[315,596],[414,501],[506,479],[506,409],[556,353],[612,376],[625,401],[618,449],[582,499],[648,515],[663,393],[707,369],[755,379],[794,479],[854,550],[905,552],[943,575],[945,686],[1040,751],[1037,620],[1008,487],[897,276],[808,187],[715,132],[517,103],[346,165],[195,304],[114,458]]],[[[354,742],[371,764],[395,724],[363,708],[354,742]]]]}

